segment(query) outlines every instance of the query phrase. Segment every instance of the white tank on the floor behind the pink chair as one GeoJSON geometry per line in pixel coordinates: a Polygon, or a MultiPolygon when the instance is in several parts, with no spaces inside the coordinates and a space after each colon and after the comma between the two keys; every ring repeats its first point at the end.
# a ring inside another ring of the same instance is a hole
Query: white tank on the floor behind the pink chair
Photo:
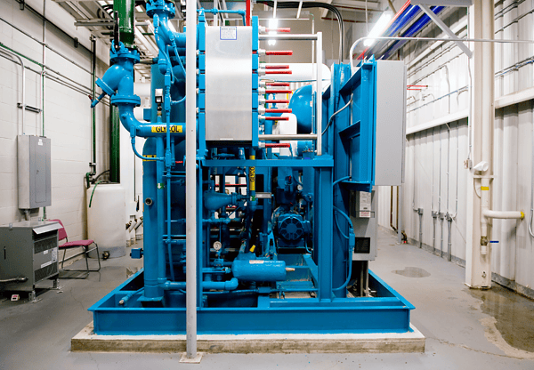
{"type": "Polygon", "coordinates": [[[100,253],[109,252],[109,258],[126,254],[125,206],[125,189],[120,184],[87,189],[87,235],[100,253]]]}

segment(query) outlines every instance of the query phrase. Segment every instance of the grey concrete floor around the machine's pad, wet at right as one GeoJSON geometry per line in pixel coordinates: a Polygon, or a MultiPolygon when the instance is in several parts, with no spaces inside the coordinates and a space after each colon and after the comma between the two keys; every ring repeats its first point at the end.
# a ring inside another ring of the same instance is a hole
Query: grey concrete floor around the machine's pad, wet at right
{"type": "MultiPolygon", "coordinates": [[[[79,263],[79,261],[77,262],[79,263]]],[[[87,309],[123,282],[129,257],[102,262],[86,280],[61,280],[61,293],[37,303],[0,302],[0,369],[533,369],[534,302],[494,286],[471,291],[465,270],[379,231],[378,276],[416,306],[412,324],[424,354],[208,354],[199,365],[180,353],[73,353],[70,339],[91,320],[87,309]]]]}

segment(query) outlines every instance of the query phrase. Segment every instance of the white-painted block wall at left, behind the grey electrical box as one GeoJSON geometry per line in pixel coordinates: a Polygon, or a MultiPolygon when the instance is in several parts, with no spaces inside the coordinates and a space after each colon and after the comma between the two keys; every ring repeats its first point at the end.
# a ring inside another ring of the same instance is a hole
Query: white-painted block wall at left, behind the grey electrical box
{"type": "MultiPolygon", "coordinates": [[[[47,2],[47,12],[53,2],[47,2]],[[50,7],[48,5],[50,4],[50,7]]],[[[54,16],[61,16],[61,9],[54,9],[54,16]]],[[[0,2],[2,18],[22,28],[31,36],[41,40],[43,21],[28,9],[20,11],[20,5],[14,0],[0,2]]],[[[51,11],[52,14],[52,11],[51,11]]],[[[64,12],[64,17],[72,17],[64,12]]],[[[86,30],[80,30],[80,39],[86,30]]],[[[0,42],[20,52],[32,60],[43,61],[42,47],[34,40],[0,21],[0,42]]],[[[54,49],[66,54],[70,59],[86,69],[91,68],[91,53],[80,45],[74,48],[70,36],[51,24],[46,26],[46,43],[54,49]]],[[[84,44],[86,44],[84,42],[84,44]]],[[[102,45],[99,43],[99,47],[102,45]]],[[[99,51],[99,54],[102,54],[99,51]]],[[[0,55],[4,56],[3,52],[0,55]]],[[[27,67],[40,71],[35,63],[24,60],[27,67]]],[[[46,50],[46,65],[61,74],[89,88],[91,75],[83,69],[65,60],[50,50],[46,50]]],[[[101,76],[107,67],[99,60],[97,76],[101,76]]],[[[21,109],[16,108],[21,101],[20,66],[9,57],[0,57],[0,224],[20,221],[22,214],[17,201],[17,134],[22,133],[21,109]]],[[[74,84],[66,78],[54,75],[67,84],[74,84]]],[[[26,103],[41,108],[40,76],[26,70],[26,103]]],[[[70,240],[85,237],[85,184],[84,175],[90,171],[92,161],[91,109],[86,93],[45,79],[44,101],[44,135],[52,140],[52,206],[46,207],[49,219],[59,218],[66,226],[70,240]]],[[[74,84],[76,85],[76,84],[74,84]]],[[[80,88],[80,86],[77,86],[80,88]]],[[[86,90],[85,87],[81,87],[86,90]]],[[[97,136],[97,173],[109,166],[109,108],[100,104],[96,109],[97,136]]],[[[43,134],[43,118],[41,115],[26,112],[25,133],[43,134]]],[[[43,210],[32,213],[32,219],[43,216],[43,210]]]]}

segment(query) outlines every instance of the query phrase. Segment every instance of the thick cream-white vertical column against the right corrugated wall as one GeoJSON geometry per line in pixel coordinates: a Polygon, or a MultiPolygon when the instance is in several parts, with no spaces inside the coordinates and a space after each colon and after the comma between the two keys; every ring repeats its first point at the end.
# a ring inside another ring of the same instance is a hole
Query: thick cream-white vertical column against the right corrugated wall
{"type": "MultiPolygon", "coordinates": [[[[474,38],[494,38],[493,3],[474,0],[474,38]]],[[[473,67],[473,164],[486,161],[490,169],[482,173],[481,198],[475,193],[473,170],[467,189],[467,248],[465,284],[472,288],[491,287],[490,228],[482,208],[490,205],[491,150],[493,149],[494,66],[493,44],[474,43],[473,67]]]]}

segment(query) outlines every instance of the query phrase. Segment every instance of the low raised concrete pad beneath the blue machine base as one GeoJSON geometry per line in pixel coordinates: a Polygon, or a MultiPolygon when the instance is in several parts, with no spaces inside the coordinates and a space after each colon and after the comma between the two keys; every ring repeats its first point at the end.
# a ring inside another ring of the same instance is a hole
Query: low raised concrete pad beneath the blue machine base
{"type": "MultiPolygon", "coordinates": [[[[198,335],[205,353],[414,353],[425,352],[425,336],[385,334],[198,335]]],[[[97,335],[93,322],[70,341],[73,352],[184,352],[185,335],[97,335]]]]}

